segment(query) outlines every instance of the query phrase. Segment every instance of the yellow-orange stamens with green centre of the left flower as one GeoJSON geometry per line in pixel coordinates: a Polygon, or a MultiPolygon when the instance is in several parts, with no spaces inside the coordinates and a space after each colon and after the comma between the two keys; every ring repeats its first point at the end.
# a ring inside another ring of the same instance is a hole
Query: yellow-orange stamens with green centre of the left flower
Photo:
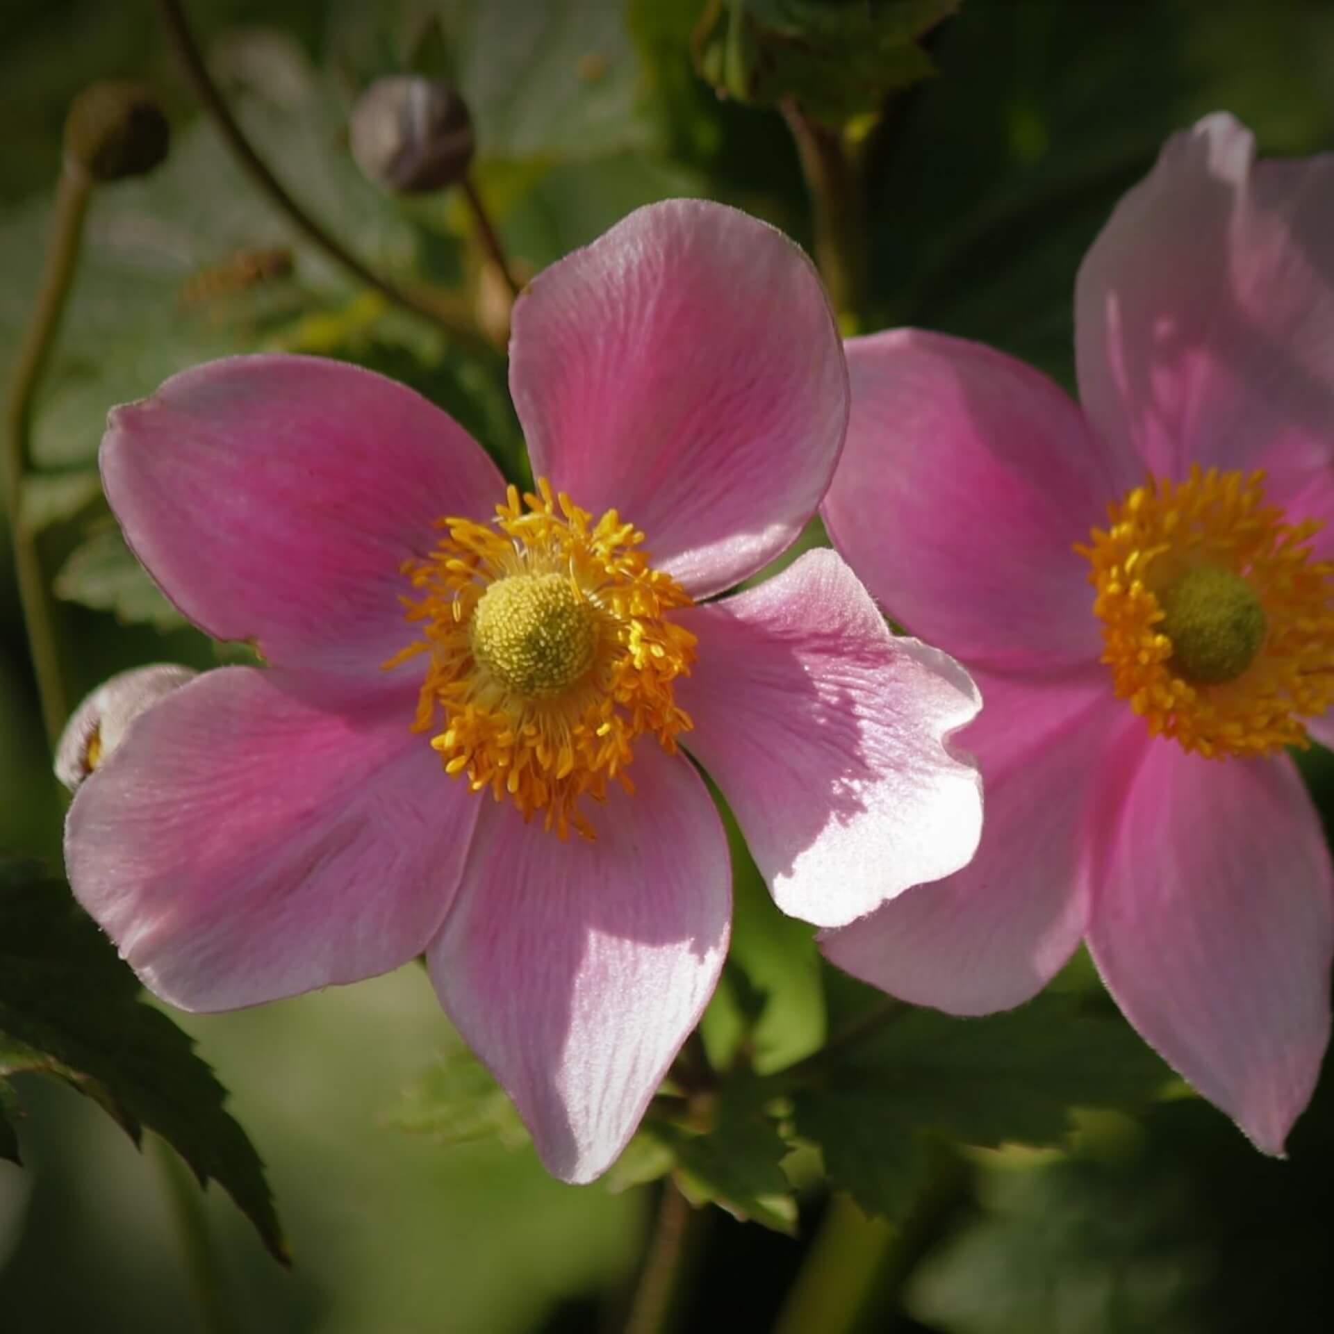
{"type": "Polygon", "coordinates": [[[466,775],[567,838],[594,836],[579,799],[632,792],[634,742],[674,752],[690,718],[672,682],[695,636],[667,619],[691,604],[648,564],[644,535],[608,510],[596,523],[567,495],[510,487],[492,524],[446,518],[435,551],[403,566],[419,639],[384,666],[428,654],[415,731],[434,731],[444,770],[466,775]]]}

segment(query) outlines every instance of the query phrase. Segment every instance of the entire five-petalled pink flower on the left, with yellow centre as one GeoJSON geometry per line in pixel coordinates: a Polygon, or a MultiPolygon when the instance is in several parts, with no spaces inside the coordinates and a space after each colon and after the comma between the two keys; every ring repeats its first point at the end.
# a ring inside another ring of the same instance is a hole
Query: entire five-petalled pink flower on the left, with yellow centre
{"type": "Polygon", "coordinates": [[[796,536],[842,446],[842,348],[779,232],[642,209],[520,299],[511,384],[552,484],[527,502],[443,412],[334,362],[216,362],[113,414],[131,546],[268,667],[140,715],[67,863],[184,1009],[426,952],[543,1161],[587,1181],[727,948],[727,843],[678,739],[779,904],[836,926],[971,856],[976,774],[944,742],[978,702],[831,551],[703,600],[796,536]]]}

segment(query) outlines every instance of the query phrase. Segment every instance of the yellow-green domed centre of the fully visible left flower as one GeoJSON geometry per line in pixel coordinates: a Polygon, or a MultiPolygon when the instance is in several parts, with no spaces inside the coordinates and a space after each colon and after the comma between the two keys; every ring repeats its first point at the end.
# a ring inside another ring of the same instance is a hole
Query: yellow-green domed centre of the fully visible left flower
{"type": "Polygon", "coordinates": [[[472,612],[472,655],[523,699],[550,699],[582,680],[598,655],[598,608],[563,574],[499,579],[472,612]]]}

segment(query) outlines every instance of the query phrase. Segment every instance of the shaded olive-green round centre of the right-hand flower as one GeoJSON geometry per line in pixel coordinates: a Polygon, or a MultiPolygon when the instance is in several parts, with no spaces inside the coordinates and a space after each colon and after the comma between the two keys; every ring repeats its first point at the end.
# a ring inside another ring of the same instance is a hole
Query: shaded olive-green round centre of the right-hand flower
{"type": "Polygon", "coordinates": [[[1231,570],[1198,566],[1157,594],[1171,640],[1169,663],[1197,686],[1237,680],[1265,644],[1269,622],[1255,590],[1231,570]]]}

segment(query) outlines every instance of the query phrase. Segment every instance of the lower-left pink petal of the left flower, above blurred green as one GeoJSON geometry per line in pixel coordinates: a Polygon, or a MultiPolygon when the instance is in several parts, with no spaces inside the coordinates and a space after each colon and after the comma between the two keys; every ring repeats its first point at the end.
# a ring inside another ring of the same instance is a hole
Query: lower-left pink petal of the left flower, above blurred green
{"type": "Polygon", "coordinates": [[[181,686],[80,787],[76,896],[185,1010],[398,967],[444,919],[482,804],[408,731],[412,708],[325,712],[249,667],[181,686]]]}

